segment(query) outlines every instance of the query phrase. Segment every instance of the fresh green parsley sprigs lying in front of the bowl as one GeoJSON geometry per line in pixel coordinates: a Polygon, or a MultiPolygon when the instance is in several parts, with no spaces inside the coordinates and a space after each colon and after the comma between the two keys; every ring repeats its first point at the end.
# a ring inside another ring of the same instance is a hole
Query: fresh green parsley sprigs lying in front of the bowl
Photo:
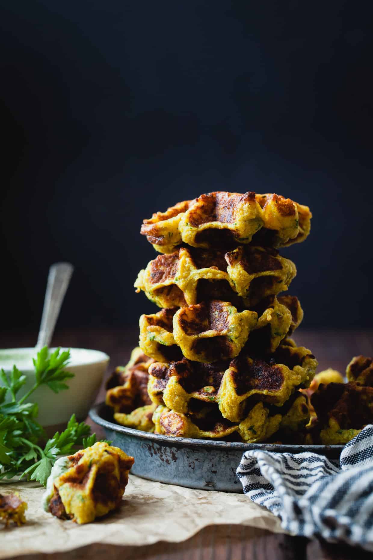
{"type": "Polygon", "coordinates": [[[0,371],[0,479],[26,476],[45,486],[59,455],[70,454],[75,446],[88,447],[96,442],[96,434],[91,434],[88,424],[77,422],[73,414],[66,430],[56,432],[44,448],[38,445],[41,438],[46,439],[37,422],[39,408],[26,400],[40,385],[47,385],[55,393],[68,389],[64,381],[74,377],[65,370],[69,357],[69,351],[60,352],[57,348],[50,354],[48,347],[42,348],[33,360],[34,385],[20,399],[17,394],[26,376],[16,366],[8,375],[0,371]]]}

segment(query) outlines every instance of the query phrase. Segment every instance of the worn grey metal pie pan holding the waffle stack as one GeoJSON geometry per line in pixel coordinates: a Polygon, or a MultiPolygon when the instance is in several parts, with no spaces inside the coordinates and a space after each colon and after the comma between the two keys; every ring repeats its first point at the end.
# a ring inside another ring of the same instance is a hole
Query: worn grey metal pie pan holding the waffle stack
{"type": "Polygon", "coordinates": [[[242,492],[236,469],[244,451],[261,449],[277,453],[313,451],[338,459],[343,445],[243,444],[163,436],[120,426],[112,421],[112,409],[97,404],[89,417],[105,430],[113,445],[135,458],[131,473],[141,478],[187,488],[242,492]]]}

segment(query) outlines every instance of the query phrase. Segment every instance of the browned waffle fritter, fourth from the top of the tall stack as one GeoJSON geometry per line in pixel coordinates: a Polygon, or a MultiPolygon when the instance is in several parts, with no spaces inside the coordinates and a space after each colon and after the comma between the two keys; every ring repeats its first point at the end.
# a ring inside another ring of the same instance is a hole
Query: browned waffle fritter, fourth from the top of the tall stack
{"type": "Polygon", "coordinates": [[[308,349],[292,346],[261,359],[239,354],[230,362],[156,362],[149,368],[148,393],[154,404],[183,414],[215,403],[224,418],[240,422],[248,399],[284,405],[295,388],[310,384],[316,367],[308,349]]]}

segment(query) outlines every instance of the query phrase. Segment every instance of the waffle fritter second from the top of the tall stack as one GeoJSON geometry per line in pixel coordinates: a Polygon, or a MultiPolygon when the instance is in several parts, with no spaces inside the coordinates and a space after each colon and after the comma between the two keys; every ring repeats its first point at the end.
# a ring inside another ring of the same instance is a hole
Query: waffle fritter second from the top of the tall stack
{"type": "Polygon", "coordinates": [[[275,249],[245,245],[225,253],[189,247],[151,260],[135,288],[159,307],[213,299],[249,307],[287,290],[295,274],[295,264],[275,249]]]}

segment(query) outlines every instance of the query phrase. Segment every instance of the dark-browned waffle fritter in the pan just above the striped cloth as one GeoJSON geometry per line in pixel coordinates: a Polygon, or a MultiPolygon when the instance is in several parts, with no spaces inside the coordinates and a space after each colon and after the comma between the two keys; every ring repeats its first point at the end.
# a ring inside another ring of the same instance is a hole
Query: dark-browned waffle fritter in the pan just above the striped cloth
{"type": "Polygon", "coordinates": [[[373,387],[355,382],[320,384],[311,396],[317,422],[310,440],[325,445],[346,444],[373,418],[373,387]]]}

